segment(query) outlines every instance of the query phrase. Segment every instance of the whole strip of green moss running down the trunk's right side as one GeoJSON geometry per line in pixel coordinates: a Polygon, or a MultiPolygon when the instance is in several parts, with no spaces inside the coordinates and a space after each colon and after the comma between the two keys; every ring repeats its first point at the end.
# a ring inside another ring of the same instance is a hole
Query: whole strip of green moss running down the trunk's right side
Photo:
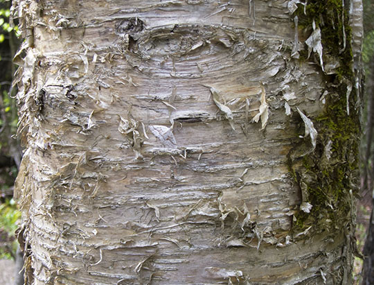
{"type": "MultiPolygon", "coordinates": [[[[301,166],[289,162],[290,172],[299,183],[305,202],[312,204],[310,213],[301,210],[295,215],[294,232],[313,225],[317,231],[332,231],[350,221],[350,190],[357,191],[359,114],[355,110],[355,90],[350,94],[350,115],[347,114],[347,83],[354,82],[353,53],[350,46],[351,30],[348,10],[341,0],[308,1],[305,8],[299,6],[295,14],[305,35],[312,31],[312,22],[321,28],[323,56],[340,62],[336,74],[326,75],[332,84],[326,101],[326,109],[314,119],[318,132],[317,147],[303,157],[301,166]],[[345,34],[345,35],[344,35],[345,34]],[[345,41],[344,41],[345,38],[345,41]],[[344,43],[345,42],[345,43],[344,43]],[[339,44],[337,44],[339,43],[339,44]],[[338,94],[338,95],[337,95],[338,94]],[[326,157],[326,146],[331,146],[331,157],[326,157]]],[[[301,51],[301,57],[305,51],[301,51]]]]}

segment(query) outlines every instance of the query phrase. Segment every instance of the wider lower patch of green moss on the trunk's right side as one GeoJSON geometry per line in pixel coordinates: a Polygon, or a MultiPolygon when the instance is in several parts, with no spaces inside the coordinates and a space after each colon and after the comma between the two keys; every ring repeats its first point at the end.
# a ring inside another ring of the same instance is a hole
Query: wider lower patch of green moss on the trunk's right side
{"type": "MultiPolygon", "coordinates": [[[[343,101],[343,100],[341,100],[343,101]]],[[[331,230],[346,223],[350,213],[350,190],[356,184],[358,171],[359,122],[357,114],[347,116],[345,102],[330,103],[315,127],[319,139],[314,153],[303,157],[302,167],[295,170],[298,182],[306,184],[310,213],[296,214],[294,230],[314,225],[319,230],[331,230]],[[330,159],[325,147],[332,141],[330,159]],[[308,179],[310,178],[310,179],[308,179]]],[[[353,111],[353,110],[352,110],[353,111]]]]}

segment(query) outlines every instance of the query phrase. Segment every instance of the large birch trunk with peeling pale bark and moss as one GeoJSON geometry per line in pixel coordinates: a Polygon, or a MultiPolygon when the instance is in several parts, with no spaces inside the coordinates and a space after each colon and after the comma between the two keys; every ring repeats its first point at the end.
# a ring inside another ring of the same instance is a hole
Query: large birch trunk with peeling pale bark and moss
{"type": "Polygon", "coordinates": [[[15,1],[26,282],[349,284],[337,2],[15,1]]]}

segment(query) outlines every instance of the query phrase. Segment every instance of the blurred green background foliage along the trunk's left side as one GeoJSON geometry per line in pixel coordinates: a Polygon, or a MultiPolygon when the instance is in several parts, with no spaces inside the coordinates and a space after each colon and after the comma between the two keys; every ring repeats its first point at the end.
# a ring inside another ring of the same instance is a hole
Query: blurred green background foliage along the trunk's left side
{"type": "MultiPolygon", "coordinates": [[[[0,167],[0,259],[12,259],[17,250],[15,238],[16,222],[20,216],[15,200],[11,197],[12,185],[17,176],[17,166],[8,162],[17,149],[17,141],[12,139],[17,131],[17,108],[12,76],[15,65],[13,55],[19,46],[20,36],[17,25],[10,24],[9,0],[0,0],[0,156],[6,163],[0,167]]],[[[17,24],[17,23],[15,23],[17,24]]]]}

